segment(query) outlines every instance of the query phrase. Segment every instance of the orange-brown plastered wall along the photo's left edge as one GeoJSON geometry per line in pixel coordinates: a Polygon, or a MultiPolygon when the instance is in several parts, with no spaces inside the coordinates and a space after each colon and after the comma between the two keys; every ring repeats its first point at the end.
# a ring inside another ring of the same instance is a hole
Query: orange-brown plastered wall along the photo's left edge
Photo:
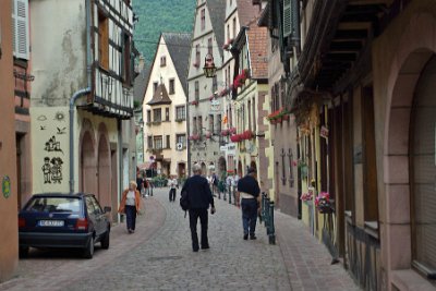
{"type": "Polygon", "coordinates": [[[11,1],[0,9],[0,282],[11,278],[19,263],[16,215],[16,150],[14,129],[14,82],[11,32],[11,1]],[[10,196],[3,183],[10,179],[10,196]]]}

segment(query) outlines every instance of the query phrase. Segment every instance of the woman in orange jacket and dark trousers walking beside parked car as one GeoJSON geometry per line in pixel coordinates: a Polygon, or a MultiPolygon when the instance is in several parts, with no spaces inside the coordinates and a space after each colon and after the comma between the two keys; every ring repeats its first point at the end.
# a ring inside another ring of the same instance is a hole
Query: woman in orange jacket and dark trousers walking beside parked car
{"type": "Polygon", "coordinates": [[[125,214],[129,233],[135,232],[136,215],[141,211],[141,194],[136,187],[135,181],[130,181],[129,187],[121,195],[120,208],[118,209],[118,213],[125,214]]]}

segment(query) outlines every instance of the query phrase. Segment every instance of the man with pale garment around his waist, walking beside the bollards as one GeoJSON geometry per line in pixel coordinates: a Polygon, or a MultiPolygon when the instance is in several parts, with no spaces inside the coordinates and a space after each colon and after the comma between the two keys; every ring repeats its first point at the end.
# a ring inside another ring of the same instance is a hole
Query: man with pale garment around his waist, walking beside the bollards
{"type": "Polygon", "coordinates": [[[238,181],[238,206],[242,209],[244,240],[256,239],[256,220],[261,211],[261,187],[256,180],[256,169],[249,168],[247,174],[238,181]]]}

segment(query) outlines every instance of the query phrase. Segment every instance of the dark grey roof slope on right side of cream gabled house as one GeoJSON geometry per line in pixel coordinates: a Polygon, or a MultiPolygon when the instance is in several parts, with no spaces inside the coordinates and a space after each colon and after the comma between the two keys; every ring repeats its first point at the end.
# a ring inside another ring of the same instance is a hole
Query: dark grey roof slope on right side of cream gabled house
{"type": "Polygon", "coordinates": [[[187,62],[190,60],[191,52],[191,39],[192,34],[190,33],[162,33],[162,38],[167,44],[168,51],[170,53],[172,63],[174,64],[178,77],[182,83],[185,95],[187,94],[187,62]]]}

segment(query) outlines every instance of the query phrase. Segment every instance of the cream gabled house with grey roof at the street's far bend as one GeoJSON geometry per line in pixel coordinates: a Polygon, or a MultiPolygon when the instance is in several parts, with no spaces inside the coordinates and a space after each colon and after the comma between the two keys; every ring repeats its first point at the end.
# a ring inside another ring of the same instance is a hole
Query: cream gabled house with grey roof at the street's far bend
{"type": "Polygon", "coordinates": [[[191,34],[162,33],[146,84],[143,104],[145,160],[157,173],[185,178],[186,66],[191,34]]]}

